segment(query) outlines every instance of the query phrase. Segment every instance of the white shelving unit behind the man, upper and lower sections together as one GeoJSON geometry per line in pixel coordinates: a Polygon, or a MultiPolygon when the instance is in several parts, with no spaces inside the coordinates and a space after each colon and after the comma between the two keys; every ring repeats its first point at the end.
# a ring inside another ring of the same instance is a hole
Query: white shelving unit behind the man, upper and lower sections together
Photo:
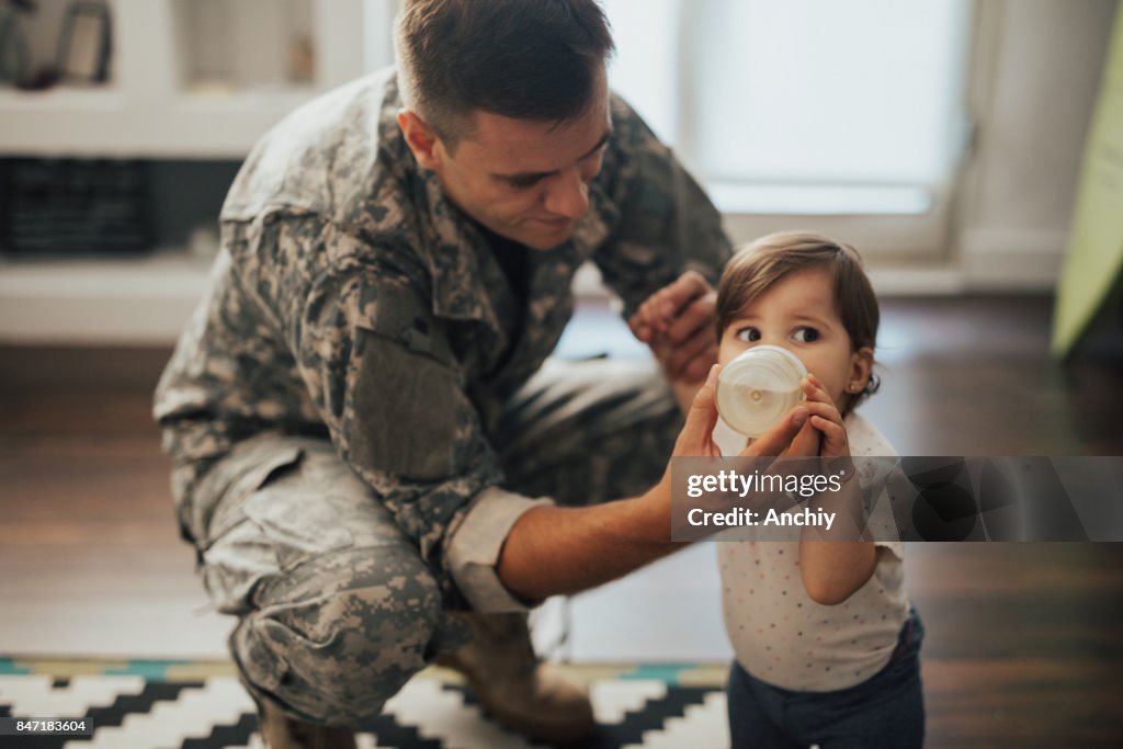
{"type": "MultiPolygon", "coordinates": [[[[109,0],[109,82],[0,89],[0,155],[239,161],[294,108],[391,60],[396,0],[210,0],[201,26],[194,3],[109,0]],[[294,29],[314,49],[307,83],[290,83],[285,68],[294,29]]],[[[44,0],[29,19],[36,63],[52,60],[66,7],[44,0]]],[[[171,344],[204,293],[208,265],[185,252],[0,259],[0,340],[171,344]]]]}

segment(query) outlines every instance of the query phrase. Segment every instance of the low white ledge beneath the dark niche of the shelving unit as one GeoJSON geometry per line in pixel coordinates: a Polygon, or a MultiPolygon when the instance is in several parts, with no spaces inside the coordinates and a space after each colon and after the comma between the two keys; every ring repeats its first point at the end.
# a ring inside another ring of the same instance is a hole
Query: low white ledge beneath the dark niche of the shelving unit
{"type": "Polygon", "coordinates": [[[0,341],[173,342],[207,289],[185,253],[0,262],[0,341]]]}

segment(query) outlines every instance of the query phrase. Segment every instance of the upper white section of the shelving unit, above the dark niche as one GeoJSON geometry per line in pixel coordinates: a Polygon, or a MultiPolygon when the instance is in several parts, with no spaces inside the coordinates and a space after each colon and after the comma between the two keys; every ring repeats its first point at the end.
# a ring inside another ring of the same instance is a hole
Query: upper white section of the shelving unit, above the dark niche
{"type": "MultiPolygon", "coordinates": [[[[112,0],[113,60],[106,86],[0,90],[0,154],[240,159],[295,107],[364,72],[364,12],[381,4],[312,0],[314,80],[192,91],[179,54],[190,29],[182,0],[112,0]]],[[[240,18],[240,6],[230,6],[240,18]]],[[[248,8],[248,6],[247,6],[248,8]]],[[[243,19],[245,20],[245,19],[243,19]]],[[[245,30],[246,24],[238,26],[245,30]]],[[[262,39],[241,39],[245,45],[262,39]]],[[[274,45],[275,46],[275,45],[274,45]]],[[[249,60],[254,60],[253,55],[249,60]]]]}

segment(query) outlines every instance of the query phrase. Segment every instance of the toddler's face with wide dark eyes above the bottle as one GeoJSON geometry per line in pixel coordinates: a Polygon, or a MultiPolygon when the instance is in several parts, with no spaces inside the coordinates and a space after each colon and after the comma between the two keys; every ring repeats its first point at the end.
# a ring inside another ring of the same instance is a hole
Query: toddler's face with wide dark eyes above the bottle
{"type": "Polygon", "coordinates": [[[874,353],[853,350],[834,309],[834,290],[827,268],[788,274],[755,299],[721,334],[718,362],[724,366],[741,351],[772,344],[800,357],[822,381],[839,409],[847,393],[860,392],[869,380],[874,353]]]}

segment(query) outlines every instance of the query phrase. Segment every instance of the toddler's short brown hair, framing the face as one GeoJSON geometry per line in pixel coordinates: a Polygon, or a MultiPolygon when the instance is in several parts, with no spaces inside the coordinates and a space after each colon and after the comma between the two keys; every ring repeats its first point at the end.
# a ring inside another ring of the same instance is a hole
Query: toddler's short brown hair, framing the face
{"type": "MultiPolygon", "coordinates": [[[[718,285],[718,340],[745,307],[789,273],[825,267],[833,277],[834,307],[853,350],[876,348],[880,313],[861,257],[850,245],[809,231],[779,231],[745,246],[725,265],[718,285]]],[[[850,396],[849,411],[877,392],[870,372],[866,387],[850,396]]],[[[841,405],[841,404],[840,404],[841,405]]]]}

